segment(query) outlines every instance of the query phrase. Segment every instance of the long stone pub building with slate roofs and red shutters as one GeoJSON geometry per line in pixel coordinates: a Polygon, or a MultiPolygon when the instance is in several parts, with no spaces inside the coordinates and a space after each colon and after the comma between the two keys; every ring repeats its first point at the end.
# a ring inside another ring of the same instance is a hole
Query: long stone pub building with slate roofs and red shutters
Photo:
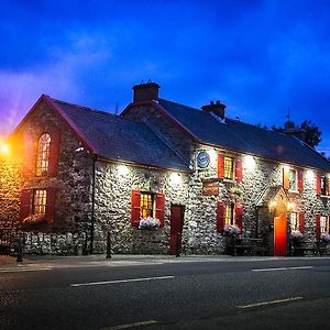
{"type": "Polygon", "coordinates": [[[134,86],[120,116],[37,100],[10,138],[14,165],[0,167],[0,223],[26,252],[101,253],[109,234],[114,253],[215,254],[237,227],[286,255],[292,231],[329,232],[328,160],[219,101],[194,109],[158,88],[134,86]]]}

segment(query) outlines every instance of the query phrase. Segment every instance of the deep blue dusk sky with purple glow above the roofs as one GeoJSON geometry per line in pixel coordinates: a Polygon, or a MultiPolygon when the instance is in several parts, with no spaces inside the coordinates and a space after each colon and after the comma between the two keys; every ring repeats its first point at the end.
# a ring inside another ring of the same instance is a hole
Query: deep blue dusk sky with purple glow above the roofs
{"type": "MultiPolygon", "coordinates": [[[[132,86],[229,117],[306,119],[330,154],[330,1],[0,0],[0,136],[42,94],[114,112],[132,86]]],[[[207,129],[207,128],[206,128],[207,129]]]]}

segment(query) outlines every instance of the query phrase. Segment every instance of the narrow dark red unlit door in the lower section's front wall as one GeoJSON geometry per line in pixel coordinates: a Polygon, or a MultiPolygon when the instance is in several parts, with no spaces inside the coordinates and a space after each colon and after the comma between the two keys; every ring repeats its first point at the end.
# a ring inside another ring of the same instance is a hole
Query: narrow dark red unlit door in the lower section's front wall
{"type": "Polygon", "coordinates": [[[185,207],[179,205],[170,206],[170,239],[169,253],[178,254],[182,246],[182,233],[184,224],[185,207]]]}

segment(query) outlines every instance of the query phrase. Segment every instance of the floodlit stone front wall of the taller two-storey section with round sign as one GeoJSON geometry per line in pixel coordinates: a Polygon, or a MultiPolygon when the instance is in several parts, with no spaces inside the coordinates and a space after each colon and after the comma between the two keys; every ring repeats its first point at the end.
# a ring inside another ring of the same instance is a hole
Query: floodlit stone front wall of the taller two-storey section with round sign
{"type": "MultiPolygon", "coordinates": [[[[257,230],[256,204],[262,194],[270,186],[283,185],[283,166],[279,164],[257,157],[251,157],[243,154],[231,153],[231,156],[242,160],[243,179],[237,184],[232,180],[217,178],[217,154],[221,150],[199,145],[194,152],[193,162],[195,164],[194,173],[189,180],[189,197],[186,210],[185,221],[185,250],[187,253],[222,253],[224,240],[216,231],[217,223],[217,202],[230,202],[229,189],[237,186],[243,191],[243,234],[249,237],[260,237],[261,230],[257,230]],[[210,154],[210,165],[207,169],[200,169],[196,166],[196,156],[200,151],[208,151],[210,154]],[[202,183],[215,180],[219,184],[218,196],[204,196],[202,183]],[[189,223],[194,226],[189,226],[189,223]]],[[[330,213],[328,197],[316,195],[316,175],[312,169],[304,169],[304,193],[288,193],[292,205],[292,211],[305,211],[305,235],[310,239],[316,238],[316,215],[327,216],[330,213]]],[[[267,206],[260,217],[264,217],[265,222],[273,220],[267,206]],[[266,219],[267,218],[267,219],[266,219]]]]}

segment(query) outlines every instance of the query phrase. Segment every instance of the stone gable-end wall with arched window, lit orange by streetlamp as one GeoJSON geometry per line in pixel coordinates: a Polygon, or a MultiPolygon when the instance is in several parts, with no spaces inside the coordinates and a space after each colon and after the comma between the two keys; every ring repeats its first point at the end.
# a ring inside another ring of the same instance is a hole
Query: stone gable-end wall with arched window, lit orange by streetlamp
{"type": "Polygon", "coordinates": [[[44,103],[40,103],[29,120],[23,122],[20,130],[15,132],[15,140],[20,141],[22,145],[26,141],[31,141],[32,157],[30,162],[35,164],[38,138],[54,129],[58,130],[61,135],[57,176],[37,177],[33,168],[32,175],[24,177],[23,182],[20,182],[20,188],[14,190],[15,202],[12,208],[18,217],[20,189],[56,188],[54,221],[52,224],[41,228],[36,226],[26,232],[26,237],[37,239],[28,240],[25,252],[43,251],[44,253],[47,251],[52,254],[67,254],[68,251],[76,251],[76,248],[73,246],[76,246],[78,244],[76,241],[80,241],[80,239],[63,239],[64,235],[73,238],[84,235],[87,237],[88,242],[90,240],[94,158],[82,142],[44,103]],[[29,242],[32,241],[33,244],[30,244],[29,242]]]}

